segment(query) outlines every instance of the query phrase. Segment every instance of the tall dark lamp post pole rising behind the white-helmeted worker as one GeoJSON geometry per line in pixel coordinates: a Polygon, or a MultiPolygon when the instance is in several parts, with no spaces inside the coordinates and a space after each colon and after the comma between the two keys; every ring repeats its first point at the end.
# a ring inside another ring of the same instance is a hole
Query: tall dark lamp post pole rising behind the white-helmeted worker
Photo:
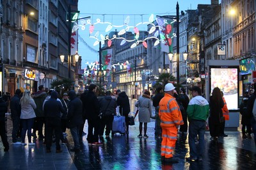
{"type": "Polygon", "coordinates": [[[176,5],[176,19],[177,19],[177,84],[180,83],[180,65],[179,65],[179,56],[180,56],[180,29],[179,29],[179,3],[176,5]]]}

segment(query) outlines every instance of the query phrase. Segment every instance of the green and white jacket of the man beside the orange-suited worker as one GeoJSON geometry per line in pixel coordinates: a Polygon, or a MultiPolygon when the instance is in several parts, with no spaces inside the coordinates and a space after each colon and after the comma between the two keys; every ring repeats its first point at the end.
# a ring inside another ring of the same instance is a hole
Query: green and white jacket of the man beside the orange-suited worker
{"type": "Polygon", "coordinates": [[[187,114],[189,120],[205,121],[209,116],[209,103],[204,97],[193,97],[188,104],[187,114]]]}

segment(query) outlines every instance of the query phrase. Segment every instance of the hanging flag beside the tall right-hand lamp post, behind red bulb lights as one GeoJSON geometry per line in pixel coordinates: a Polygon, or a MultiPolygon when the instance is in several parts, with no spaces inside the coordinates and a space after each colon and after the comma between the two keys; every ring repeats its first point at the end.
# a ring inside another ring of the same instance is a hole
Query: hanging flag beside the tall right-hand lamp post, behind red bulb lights
{"type": "Polygon", "coordinates": [[[160,39],[164,40],[164,43],[161,43],[161,51],[167,53],[172,52],[173,21],[164,18],[157,18],[157,23],[161,26],[161,30],[159,32],[160,39]]]}

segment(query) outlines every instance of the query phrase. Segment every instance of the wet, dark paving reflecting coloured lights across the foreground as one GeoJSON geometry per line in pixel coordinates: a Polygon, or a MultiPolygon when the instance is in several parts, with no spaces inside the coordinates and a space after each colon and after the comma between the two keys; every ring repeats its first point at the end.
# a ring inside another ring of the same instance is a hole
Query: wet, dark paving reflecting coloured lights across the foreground
{"type": "MultiPolygon", "coordinates": [[[[131,104],[132,107],[132,104],[131,104]]],[[[132,112],[135,108],[132,107],[132,112]]],[[[61,145],[62,153],[46,153],[42,141],[34,140],[35,146],[12,145],[12,122],[8,123],[10,150],[3,151],[0,142],[0,169],[256,169],[256,149],[253,139],[242,139],[241,128],[225,132],[228,137],[219,143],[210,140],[205,133],[205,153],[202,162],[187,162],[189,146],[187,135],[178,135],[175,157],[179,163],[161,163],[161,139],[154,136],[154,120],[148,123],[148,138],[140,139],[138,118],[130,126],[129,135],[103,136],[103,146],[89,146],[83,136],[81,151],[70,152],[73,146],[70,131],[67,130],[68,144],[61,145]]],[[[88,125],[84,127],[87,132],[88,125]]]]}

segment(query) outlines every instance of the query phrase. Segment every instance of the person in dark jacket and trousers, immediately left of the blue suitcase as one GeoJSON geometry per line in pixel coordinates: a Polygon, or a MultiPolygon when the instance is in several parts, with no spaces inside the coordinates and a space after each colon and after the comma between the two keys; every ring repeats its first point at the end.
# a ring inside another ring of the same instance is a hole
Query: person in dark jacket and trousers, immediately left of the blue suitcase
{"type": "Polygon", "coordinates": [[[111,97],[111,91],[106,91],[106,96],[99,101],[100,112],[102,118],[100,119],[100,132],[99,135],[104,134],[104,128],[106,127],[105,135],[109,137],[112,132],[112,123],[114,115],[116,114],[116,99],[111,97]]]}

